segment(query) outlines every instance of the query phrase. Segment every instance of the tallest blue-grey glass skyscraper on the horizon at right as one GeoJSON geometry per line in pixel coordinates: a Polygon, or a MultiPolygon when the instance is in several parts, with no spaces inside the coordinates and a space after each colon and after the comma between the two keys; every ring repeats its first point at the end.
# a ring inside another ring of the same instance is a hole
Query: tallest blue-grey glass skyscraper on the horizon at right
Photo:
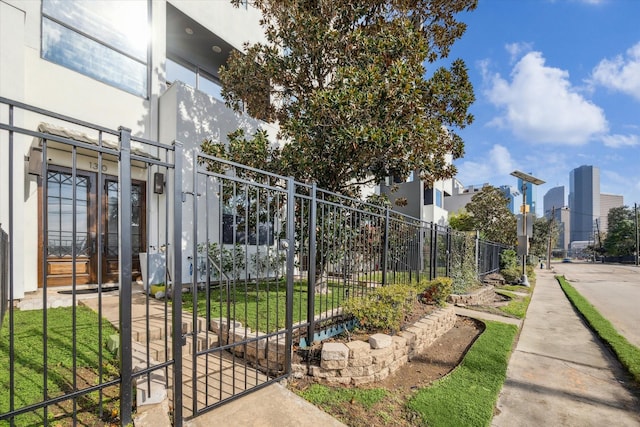
{"type": "Polygon", "coordinates": [[[593,240],[600,218],[600,169],[583,165],[572,170],[569,178],[571,242],[593,240]]]}

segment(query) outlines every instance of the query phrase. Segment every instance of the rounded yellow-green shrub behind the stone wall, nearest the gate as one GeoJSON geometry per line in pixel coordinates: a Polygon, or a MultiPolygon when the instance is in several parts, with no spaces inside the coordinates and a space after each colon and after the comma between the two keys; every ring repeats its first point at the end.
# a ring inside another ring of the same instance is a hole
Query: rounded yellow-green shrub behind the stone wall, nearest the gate
{"type": "Polygon", "coordinates": [[[400,329],[415,301],[413,286],[394,284],[377,288],[362,297],[349,298],[342,309],[344,314],[358,319],[360,327],[367,331],[393,333],[400,329]]]}

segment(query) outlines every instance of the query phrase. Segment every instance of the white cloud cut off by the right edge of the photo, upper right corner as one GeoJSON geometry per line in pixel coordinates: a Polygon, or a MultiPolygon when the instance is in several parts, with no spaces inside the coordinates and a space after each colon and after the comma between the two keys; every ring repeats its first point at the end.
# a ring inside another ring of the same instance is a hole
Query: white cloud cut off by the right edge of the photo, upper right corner
{"type": "Polygon", "coordinates": [[[627,50],[626,57],[603,59],[591,73],[593,83],[640,100],[640,42],[627,50]]]}

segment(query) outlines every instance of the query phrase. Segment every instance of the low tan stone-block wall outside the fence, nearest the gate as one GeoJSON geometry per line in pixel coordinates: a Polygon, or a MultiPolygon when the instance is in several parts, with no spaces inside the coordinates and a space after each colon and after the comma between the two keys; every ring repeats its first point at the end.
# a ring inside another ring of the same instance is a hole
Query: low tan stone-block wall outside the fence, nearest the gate
{"type": "Polygon", "coordinates": [[[326,383],[366,384],[381,381],[422,352],[456,323],[452,306],[438,309],[390,336],[375,334],[369,342],[329,342],[322,346],[320,366],[294,364],[294,377],[313,376],[326,383]]]}

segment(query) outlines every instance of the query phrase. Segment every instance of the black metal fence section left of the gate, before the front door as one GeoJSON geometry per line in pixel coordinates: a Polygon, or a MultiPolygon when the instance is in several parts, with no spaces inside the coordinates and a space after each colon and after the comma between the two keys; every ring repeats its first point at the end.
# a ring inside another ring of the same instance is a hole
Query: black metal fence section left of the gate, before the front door
{"type": "MultiPolygon", "coordinates": [[[[11,237],[0,423],[126,425],[158,377],[181,396],[180,312],[139,283],[151,245],[179,247],[180,146],[0,98],[0,150],[11,237]],[[168,185],[154,199],[156,173],[168,185]]],[[[180,257],[167,267],[180,277],[180,257]]]]}

